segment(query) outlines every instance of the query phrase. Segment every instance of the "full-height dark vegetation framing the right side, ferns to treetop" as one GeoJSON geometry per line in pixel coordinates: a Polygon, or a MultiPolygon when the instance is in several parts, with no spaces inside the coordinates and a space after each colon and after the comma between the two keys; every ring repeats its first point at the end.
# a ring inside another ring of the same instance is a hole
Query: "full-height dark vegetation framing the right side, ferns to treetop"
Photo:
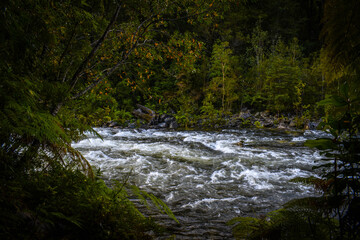
{"type": "Polygon", "coordinates": [[[318,105],[326,109],[321,129],[332,138],[305,144],[322,151],[315,167],[321,174],[292,180],[313,185],[321,195],[292,200],[259,218],[232,219],[238,239],[360,239],[360,58],[359,48],[353,47],[360,43],[360,19],[354,14],[360,5],[350,2],[328,1],[324,9],[322,57],[338,91],[318,105]],[[338,9],[352,17],[341,17],[338,9]]]}

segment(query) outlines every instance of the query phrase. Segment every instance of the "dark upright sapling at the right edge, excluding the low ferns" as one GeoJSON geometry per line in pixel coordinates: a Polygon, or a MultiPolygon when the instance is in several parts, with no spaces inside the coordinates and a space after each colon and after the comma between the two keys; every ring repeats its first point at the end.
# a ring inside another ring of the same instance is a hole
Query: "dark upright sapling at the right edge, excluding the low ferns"
{"type": "MultiPolygon", "coordinates": [[[[348,89],[344,87],[344,89],[348,89]]],[[[342,91],[348,96],[348,91],[342,91]]],[[[326,163],[319,166],[323,169],[321,190],[325,199],[326,209],[323,214],[338,221],[336,235],[341,239],[358,237],[360,219],[355,212],[359,211],[359,107],[351,98],[337,95],[322,101],[321,104],[332,105],[337,114],[327,118],[324,128],[333,139],[308,141],[307,145],[324,151],[326,163]]],[[[319,182],[319,180],[317,181],[319,182]]]]}

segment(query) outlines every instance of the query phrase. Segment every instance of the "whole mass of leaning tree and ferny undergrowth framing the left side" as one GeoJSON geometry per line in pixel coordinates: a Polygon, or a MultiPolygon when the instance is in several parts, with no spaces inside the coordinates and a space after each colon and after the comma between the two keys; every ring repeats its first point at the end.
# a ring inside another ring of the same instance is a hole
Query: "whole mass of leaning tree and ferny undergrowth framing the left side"
{"type": "MultiPolygon", "coordinates": [[[[109,77],[136,61],[136,49],[157,48],[167,22],[200,18],[212,6],[14,0],[0,7],[0,236],[148,237],[154,225],[128,199],[126,181],[110,190],[71,143],[110,114],[109,77]]],[[[171,212],[155,196],[135,192],[171,212]]]]}

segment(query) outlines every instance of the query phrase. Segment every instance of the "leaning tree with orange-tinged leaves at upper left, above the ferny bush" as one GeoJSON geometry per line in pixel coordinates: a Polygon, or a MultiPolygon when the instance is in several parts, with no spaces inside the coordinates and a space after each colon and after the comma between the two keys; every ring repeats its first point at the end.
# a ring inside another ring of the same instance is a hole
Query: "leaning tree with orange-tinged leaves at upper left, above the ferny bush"
{"type": "MultiPolygon", "coordinates": [[[[214,7],[206,0],[3,2],[3,153],[17,152],[17,161],[31,162],[39,149],[44,153],[47,149],[65,159],[63,153],[73,151],[71,141],[90,130],[79,121],[84,112],[78,107],[92,102],[91,91],[126,70],[129,62],[141,65],[133,57],[135,50],[152,55],[166,39],[169,23],[201,19],[214,7]]],[[[98,107],[107,111],[106,105],[98,107]]],[[[80,165],[89,169],[80,159],[80,165]]]]}

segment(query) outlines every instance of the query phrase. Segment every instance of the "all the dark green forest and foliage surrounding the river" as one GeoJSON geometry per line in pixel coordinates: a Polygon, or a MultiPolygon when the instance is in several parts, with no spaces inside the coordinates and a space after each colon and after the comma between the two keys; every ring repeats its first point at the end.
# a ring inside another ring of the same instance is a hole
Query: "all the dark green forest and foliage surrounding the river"
{"type": "Polygon", "coordinates": [[[321,119],[333,139],[307,145],[331,161],[322,178],[294,181],[322,196],[230,224],[238,239],[359,239],[359,1],[0,7],[1,239],[152,239],[164,229],[139,212],[134,195],[177,221],[126,179],[109,188],[71,146],[97,134],[93,127],[138,123],[137,104],[173,116],[180,129],[244,111],[292,118],[300,129],[321,119]]]}

